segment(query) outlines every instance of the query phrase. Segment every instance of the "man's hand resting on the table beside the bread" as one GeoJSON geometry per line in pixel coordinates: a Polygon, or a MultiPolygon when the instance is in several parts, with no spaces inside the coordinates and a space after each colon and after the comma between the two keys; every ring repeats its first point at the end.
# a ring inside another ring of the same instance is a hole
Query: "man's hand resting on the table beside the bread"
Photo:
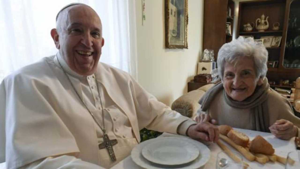
{"type": "Polygon", "coordinates": [[[219,129],[217,126],[207,121],[202,121],[195,125],[191,125],[187,129],[187,135],[195,140],[202,139],[205,141],[217,142],[219,139],[219,129]]]}

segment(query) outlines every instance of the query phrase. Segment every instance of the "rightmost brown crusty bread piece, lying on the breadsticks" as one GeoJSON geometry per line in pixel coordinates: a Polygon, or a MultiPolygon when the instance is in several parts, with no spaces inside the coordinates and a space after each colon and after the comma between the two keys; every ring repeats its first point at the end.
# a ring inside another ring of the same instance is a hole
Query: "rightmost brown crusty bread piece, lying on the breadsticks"
{"type": "Polygon", "coordinates": [[[261,153],[266,155],[272,155],[275,152],[273,146],[260,135],[256,136],[250,142],[250,151],[254,153],[261,153]]]}

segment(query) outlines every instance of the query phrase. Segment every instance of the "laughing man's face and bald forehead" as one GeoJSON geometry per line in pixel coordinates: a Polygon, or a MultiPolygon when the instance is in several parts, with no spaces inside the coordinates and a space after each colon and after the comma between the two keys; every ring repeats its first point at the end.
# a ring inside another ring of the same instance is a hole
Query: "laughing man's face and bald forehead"
{"type": "Polygon", "coordinates": [[[101,20],[85,5],[71,6],[58,18],[58,44],[68,66],[80,75],[91,75],[96,69],[104,45],[101,20]]]}

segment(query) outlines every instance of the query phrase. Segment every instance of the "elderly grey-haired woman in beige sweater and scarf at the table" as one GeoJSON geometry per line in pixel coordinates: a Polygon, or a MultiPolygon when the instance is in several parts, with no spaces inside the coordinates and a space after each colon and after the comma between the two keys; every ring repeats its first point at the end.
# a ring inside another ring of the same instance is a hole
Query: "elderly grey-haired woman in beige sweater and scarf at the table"
{"type": "Polygon", "coordinates": [[[224,44],[217,59],[222,81],[199,100],[196,120],[271,132],[284,140],[300,136],[300,118],[289,101],[269,87],[267,60],[268,51],[253,38],[224,44]]]}

